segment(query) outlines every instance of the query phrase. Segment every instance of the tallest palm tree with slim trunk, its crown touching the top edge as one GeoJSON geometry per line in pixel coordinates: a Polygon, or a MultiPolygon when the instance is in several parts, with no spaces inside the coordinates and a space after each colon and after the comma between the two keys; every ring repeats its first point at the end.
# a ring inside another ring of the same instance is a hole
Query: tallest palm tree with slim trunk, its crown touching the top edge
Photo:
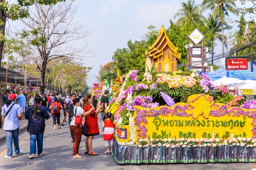
{"type": "Polygon", "coordinates": [[[224,22],[225,17],[228,16],[228,12],[233,14],[236,13],[235,8],[236,4],[234,0],[203,0],[202,2],[202,11],[211,9],[212,10],[212,17],[219,17],[221,23],[221,40],[222,40],[222,56],[224,58],[224,22]]]}

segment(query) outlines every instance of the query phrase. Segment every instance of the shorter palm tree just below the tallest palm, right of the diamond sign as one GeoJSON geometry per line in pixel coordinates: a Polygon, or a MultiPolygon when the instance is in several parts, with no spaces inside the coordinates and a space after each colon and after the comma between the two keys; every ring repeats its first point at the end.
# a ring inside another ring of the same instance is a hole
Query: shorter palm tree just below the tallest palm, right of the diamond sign
{"type": "MultiPolygon", "coordinates": [[[[214,41],[215,39],[218,39],[222,41],[222,35],[221,33],[221,22],[218,17],[212,17],[211,14],[209,14],[209,17],[206,19],[204,18],[204,23],[209,29],[209,31],[212,31],[214,34],[214,37],[212,37],[212,64],[213,64],[213,55],[214,55],[214,41]]],[[[223,30],[230,30],[232,29],[232,26],[229,26],[227,22],[223,23],[224,27],[223,30]]],[[[227,40],[227,37],[224,35],[224,40],[227,40]]],[[[225,47],[227,48],[227,42],[224,42],[225,47]]]]}

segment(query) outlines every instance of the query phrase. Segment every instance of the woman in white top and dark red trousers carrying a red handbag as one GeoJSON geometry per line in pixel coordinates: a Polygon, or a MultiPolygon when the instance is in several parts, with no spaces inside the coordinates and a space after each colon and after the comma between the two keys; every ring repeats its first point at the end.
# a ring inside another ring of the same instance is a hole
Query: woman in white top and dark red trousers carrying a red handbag
{"type": "Polygon", "coordinates": [[[91,108],[89,111],[84,112],[83,108],[80,105],[80,99],[74,98],[74,112],[71,116],[72,121],[70,122],[70,131],[73,133],[75,142],[73,144],[73,158],[82,158],[81,154],[78,152],[79,145],[82,138],[82,116],[89,115],[92,111],[95,111],[95,108],[91,108]]]}

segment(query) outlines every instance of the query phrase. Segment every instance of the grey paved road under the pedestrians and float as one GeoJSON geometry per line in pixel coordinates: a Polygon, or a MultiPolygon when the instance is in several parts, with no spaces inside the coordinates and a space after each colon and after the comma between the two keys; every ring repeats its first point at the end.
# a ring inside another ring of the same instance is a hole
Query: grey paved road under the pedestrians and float
{"type": "MultiPolygon", "coordinates": [[[[100,117],[99,117],[100,120],[100,117]]],[[[102,128],[101,121],[99,127],[102,128]]],[[[82,159],[73,159],[73,144],[71,143],[68,123],[61,129],[53,130],[52,121],[49,121],[44,132],[43,156],[29,157],[29,134],[20,136],[20,148],[23,154],[13,156],[12,159],[4,158],[5,146],[0,147],[0,170],[250,170],[253,163],[232,164],[142,164],[142,165],[118,165],[111,154],[104,154],[105,142],[102,132],[93,139],[93,150],[99,156],[84,155],[84,136],[82,138],[79,152],[84,156],[82,159]]]]}

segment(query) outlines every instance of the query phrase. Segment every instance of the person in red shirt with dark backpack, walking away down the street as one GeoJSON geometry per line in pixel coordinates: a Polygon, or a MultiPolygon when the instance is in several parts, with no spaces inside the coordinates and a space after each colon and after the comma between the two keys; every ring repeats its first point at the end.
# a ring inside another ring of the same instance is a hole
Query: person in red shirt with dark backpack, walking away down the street
{"type": "Polygon", "coordinates": [[[60,123],[61,110],[60,109],[63,109],[63,107],[58,102],[58,97],[54,97],[54,102],[51,104],[49,109],[52,109],[53,129],[54,130],[56,129],[55,128],[56,118],[58,123],[58,129],[60,129],[61,128],[61,123],[60,123]]]}

